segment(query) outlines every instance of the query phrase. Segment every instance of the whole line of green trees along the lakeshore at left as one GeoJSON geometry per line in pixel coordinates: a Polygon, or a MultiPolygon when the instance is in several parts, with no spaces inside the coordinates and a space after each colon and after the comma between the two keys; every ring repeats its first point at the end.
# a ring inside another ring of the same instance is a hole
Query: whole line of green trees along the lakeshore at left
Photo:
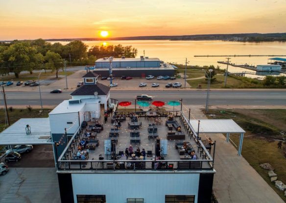
{"type": "Polygon", "coordinates": [[[32,41],[12,41],[0,43],[0,75],[13,72],[16,78],[26,70],[33,74],[34,69],[48,68],[56,72],[71,65],[94,65],[97,58],[131,57],[137,55],[137,49],[131,45],[95,45],[88,49],[83,42],[76,40],[62,45],[51,44],[43,39],[32,41]]]}

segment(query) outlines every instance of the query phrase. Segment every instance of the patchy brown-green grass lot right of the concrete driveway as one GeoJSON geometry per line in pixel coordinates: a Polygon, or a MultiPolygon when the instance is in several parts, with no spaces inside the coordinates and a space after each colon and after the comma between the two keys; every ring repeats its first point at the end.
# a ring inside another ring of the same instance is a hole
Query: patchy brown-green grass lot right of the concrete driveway
{"type": "MultiPolygon", "coordinates": [[[[286,201],[284,192],[275,187],[270,182],[268,171],[262,169],[259,165],[262,163],[270,163],[275,168],[278,180],[286,183],[286,158],[283,149],[277,148],[278,141],[274,139],[282,139],[280,132],[282,125],[275,124],[275,121],[285,123],[286,110],[210,110],[210,114],[215,114],[215,119],[231,118],[242,127],[246,134],[243,138],[242,156],[248,163],[262,176],[262,178],[286,201]],[[221,112],[222,111],[222,112],[221,112]],[[239,113],[238,113],[239,112],[239,113]],[[254,113],[254,116],[251,116],[254,113]],[[259,116],[261,115],[261,116],[259,116]],[[265,122],[263,117],[267,117],[265,122]],[[270,120],[273,124],[269,124],[270,120]]],[[[214,118],[214,117],[212,117],[214,118]]],[[[230,138],[238,145],[239,135],[231,135],[230,138]]]]}

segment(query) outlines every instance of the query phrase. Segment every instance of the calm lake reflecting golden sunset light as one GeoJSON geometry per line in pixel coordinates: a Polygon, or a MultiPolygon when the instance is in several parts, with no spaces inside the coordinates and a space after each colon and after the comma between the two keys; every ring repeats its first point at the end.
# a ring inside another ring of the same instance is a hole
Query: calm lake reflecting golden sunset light
{"type": "MultiPolygon", "coordinates": [[[[286,55],[286,42],[229,42],[229,41],[168,41],[168,40],[126,40],[126,41],[83,41],[89,47],[94,45],[132,45],[138,49],[138,55],[158,57],[164,62],[185,64],[186,58],[189,65],[220,66],[217,61],[226,61],[226,57],[194,57],[194,55],[286,55]]],[[[69,42],[60,42],[68,44],[69,42]]],[[[273,57],[230,57],[231,63],[249,64],[253,66],[265,65],[273,57]]],[[[286,57],[282,57],[286,58],[286,57]]],[[[229,66],[230,72],[251,71],[244,68],[229,66]]],[[[254,71],[253,71],[254,72],[254,71]]],[[[247,75],[248,77],[263,77],[247,75]]]]}

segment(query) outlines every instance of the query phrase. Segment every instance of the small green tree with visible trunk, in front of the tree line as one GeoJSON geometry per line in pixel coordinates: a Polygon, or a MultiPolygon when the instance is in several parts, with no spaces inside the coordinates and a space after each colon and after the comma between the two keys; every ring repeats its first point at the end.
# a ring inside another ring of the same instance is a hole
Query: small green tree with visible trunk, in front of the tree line
{"type": "Polygon", "coordinates": [[[58,78],[58,70],[63,68],[63,59],[60,54],[53,51],[48,51],[45,56],[46,66],[56,71],[56,78],[58,78]]]}

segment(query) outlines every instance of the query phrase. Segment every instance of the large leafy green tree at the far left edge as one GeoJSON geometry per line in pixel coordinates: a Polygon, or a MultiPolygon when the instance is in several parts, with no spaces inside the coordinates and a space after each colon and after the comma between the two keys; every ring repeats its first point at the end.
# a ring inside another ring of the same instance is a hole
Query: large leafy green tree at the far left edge
{"type": "Polygon", "coordinates": [[[14,41],[1,53],[1,66],[8,67],[6,72],[14,72],[15,77],[19,78],[21,71],[32,71],[33,68],[41,65],[43,55],[37,53],[35,47],[29,42],[14,41]]]}

